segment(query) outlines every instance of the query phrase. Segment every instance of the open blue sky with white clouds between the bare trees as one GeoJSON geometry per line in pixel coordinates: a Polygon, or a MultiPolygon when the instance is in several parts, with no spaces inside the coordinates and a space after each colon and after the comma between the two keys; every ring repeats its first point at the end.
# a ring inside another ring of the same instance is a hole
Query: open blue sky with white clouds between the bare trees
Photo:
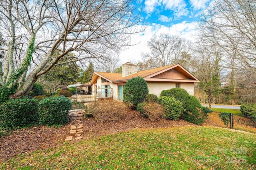
{"type": "MultiPolygon", "coordinates": [[[[138,0],[142,5],[145,32],[132,35],[131,42],[137,45],[120,53],[122,63],[141,60],[141,53],[148,52],[147,42],[153,35],[169,33],[194,40],[196,23],[201,11],[207,8],[211,0],[138,0]]],[[[143,26],[139,25],[138,27],[143,26]]]]}

